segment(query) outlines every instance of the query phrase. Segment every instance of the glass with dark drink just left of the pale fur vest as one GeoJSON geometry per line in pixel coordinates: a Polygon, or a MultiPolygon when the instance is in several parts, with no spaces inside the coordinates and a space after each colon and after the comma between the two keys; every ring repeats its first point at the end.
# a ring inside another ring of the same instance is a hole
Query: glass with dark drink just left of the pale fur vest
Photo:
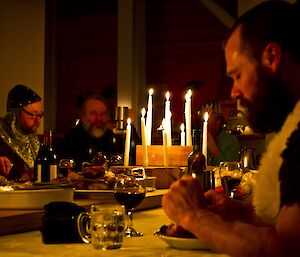
{"type": "Polygon", "coordinates": [[[220,162],[219,175],[225,195],[234,198],[237,186],[241,183],[243,171],[239,162],[220,162]]]}

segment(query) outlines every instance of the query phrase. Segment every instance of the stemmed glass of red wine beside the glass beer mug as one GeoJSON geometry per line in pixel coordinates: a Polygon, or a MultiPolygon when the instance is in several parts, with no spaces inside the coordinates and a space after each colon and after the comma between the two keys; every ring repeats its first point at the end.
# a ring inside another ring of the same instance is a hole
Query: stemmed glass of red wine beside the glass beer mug
{"type": "Polygon", "coordinates": [[[143,234],[133,228],[132,213],[145,198],[146,184],[144,178],[135,178],[134,176],[118,175],[114,186],[115,199],[125,206],[129,217],[125,235],[127,237],[142,236],[143,234]]]}

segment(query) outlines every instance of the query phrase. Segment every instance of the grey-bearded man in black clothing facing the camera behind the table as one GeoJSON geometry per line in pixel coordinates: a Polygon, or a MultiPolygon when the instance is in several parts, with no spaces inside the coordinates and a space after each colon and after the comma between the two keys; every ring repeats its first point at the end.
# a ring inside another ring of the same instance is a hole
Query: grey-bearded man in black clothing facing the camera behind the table
{"type": "Polygon", "coordinates": [[[116,145],[115,135],[108,129],[110,117],[105,99],[96,93],[87,94],[78,102],[80,121],[63,139],[63,157],[73,158],[77,169],[90,162],[95,154],[122,152],[116,145]]]}

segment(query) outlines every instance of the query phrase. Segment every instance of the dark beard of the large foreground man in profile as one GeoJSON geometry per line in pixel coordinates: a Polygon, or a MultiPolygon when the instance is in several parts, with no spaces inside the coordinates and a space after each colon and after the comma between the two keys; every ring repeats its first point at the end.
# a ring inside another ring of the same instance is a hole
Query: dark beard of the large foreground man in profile
{"type": "Polygon", "coordinates": [[[293,110],[295,100],[287,86],[277,77],[268,77],[258,68],[258,91],[253,101],[240,98],[241,106],[250,127],[257,133],[278,132],[287,115],[293,110]]]}

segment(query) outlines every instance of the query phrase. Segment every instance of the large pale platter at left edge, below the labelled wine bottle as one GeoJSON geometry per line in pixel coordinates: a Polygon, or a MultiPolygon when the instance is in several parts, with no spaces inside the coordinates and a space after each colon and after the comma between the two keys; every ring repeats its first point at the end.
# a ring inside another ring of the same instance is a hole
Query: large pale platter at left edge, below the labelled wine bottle
{"type": "Polygon", "coordinates": [[[50,202],[73,202],[73,188],[0,191],[0,209],[43,209],[50,202]]]}

